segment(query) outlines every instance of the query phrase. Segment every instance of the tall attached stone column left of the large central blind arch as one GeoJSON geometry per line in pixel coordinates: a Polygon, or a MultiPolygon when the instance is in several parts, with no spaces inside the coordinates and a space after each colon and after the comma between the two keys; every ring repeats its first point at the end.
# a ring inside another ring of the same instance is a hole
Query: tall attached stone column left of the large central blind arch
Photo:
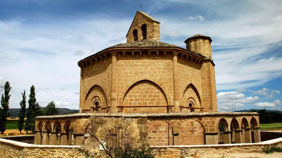
{"type": "Polygon", "coordinates": [[[117,112],[117,53],[112,53],[111,113],[117,112]]]}

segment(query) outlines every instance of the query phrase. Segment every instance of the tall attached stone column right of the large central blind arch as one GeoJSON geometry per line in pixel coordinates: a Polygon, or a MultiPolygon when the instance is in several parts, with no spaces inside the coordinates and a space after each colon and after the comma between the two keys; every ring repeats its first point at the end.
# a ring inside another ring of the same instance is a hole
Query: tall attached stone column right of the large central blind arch
{"type": "Polygon", "coordinates": [[[178,90],[178,69],[177,69],[177,54],[173,52],[172,59],[172,78],[173,78],[173,101],[174,101],[174,112],[179,112],[179,90],[178,90]]]}

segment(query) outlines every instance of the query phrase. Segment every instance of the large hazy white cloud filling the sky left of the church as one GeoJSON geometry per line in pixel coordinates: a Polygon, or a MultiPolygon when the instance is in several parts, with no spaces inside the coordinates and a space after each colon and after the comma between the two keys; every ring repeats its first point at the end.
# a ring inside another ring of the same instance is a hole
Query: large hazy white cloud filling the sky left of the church
{"type": "Polygon", "coordinates": [[[79,95],[74,94],[80,84],[77,62],[126,42],[124,36],[131,20],[85,19],[48,26],[0,21],[0,85],[6,80],[11,83],[10,108],[19,107],[24,89],[28,99],[30,86],[34,85],[41,106],[53,100],[57,107],[79,109],[79,95]]]}

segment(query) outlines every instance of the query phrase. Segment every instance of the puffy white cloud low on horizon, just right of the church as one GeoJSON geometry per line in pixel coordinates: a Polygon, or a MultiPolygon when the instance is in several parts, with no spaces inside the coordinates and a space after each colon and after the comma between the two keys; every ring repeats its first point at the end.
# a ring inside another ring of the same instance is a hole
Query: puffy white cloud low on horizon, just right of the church
{"type": "Polygon", "coordinates": [[[218,110],[238,110],[244,107],[244,103],[258,101],[258,96],[246,97],[245,94],[236,91],[219,92],[217,94],[218,110]]]}

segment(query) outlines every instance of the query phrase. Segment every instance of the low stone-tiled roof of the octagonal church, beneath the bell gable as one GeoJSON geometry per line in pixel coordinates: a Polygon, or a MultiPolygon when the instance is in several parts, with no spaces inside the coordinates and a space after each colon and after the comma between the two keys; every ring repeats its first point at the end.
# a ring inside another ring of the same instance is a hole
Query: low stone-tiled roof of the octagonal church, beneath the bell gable
{"type": "MultiPolygon", "coordinates": [[[[141,41],[134,41],[134,42],[128,42],[128,43],[120,43],[120,44],[116,44],[116,45],[113,45],[113,46],[110,46],[108,48],[105,48],[95,54],[92,54],[82,60],[80,60],[78,63],[81,63],[85,60],[88,60],[98,54],[101,54],[103,52],[105,52],[107,49],[111,49],[111,48],[159,48],[159,47],[163,47],[163,48],[179,48],[179,49],[182,49],[184,51],[188,51],[182,47],[179,47],[179,46],[176,46],[176,45],[173,45],[173,44],[168,44],[168,43],[164,43],[164,42],[160,42],[160,41],[155,41],[155,40],[141,40],[141,41]]],[[[191,51],[189,51],[191,52],[191,51]]],[[[195,55],[198,55],[198,56],[201,56],[201,57],[204,57],[203,55],[199,54],[199,53],[195,53],[195,52],[191,52],[195,55]]]]}

